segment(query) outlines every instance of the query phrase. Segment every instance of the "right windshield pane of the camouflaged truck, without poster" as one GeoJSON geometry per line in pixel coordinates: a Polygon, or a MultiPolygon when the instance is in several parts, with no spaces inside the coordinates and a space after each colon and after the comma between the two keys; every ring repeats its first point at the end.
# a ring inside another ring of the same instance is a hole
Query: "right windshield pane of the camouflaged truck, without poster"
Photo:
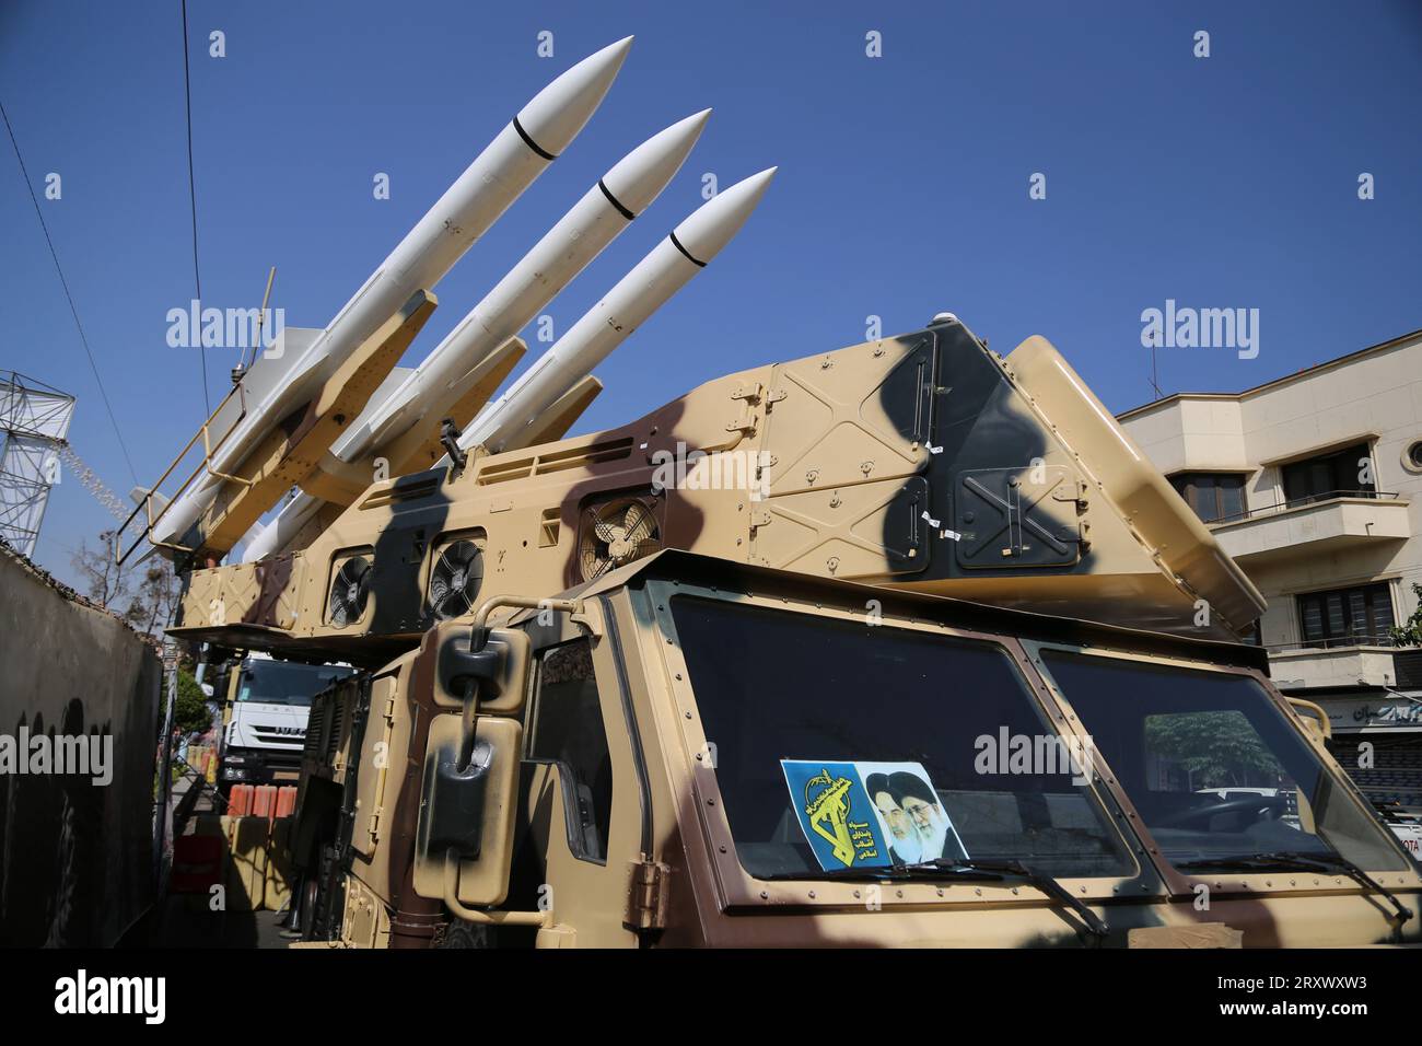
{"type": "Polygon", "coordinates": [[[1254,679],[1057,650],[1048,672],[1162,854],[1190,872],[1260,858],[1406,858],[1254,679]]]}

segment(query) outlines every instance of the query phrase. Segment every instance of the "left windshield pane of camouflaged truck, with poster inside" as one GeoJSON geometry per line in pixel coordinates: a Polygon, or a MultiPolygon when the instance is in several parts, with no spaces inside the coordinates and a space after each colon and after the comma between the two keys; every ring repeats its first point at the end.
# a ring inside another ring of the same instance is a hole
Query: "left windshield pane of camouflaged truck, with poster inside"
{"type": "Polygon", "coordinates": [[[870,864],[1018,860],[1054,877],[1135,872],[1003,648],[695,596],[671,606],[751,875],[815,878],[853,865],[836,867],[825,857],[832,848],[811,841],[798,766],[812,776],[852,767],[830,777],[857,778],[840,793],[840,820],[860,837],[876,825],[887,852],[870,864]],[[1022,744],[1044,760],[1004,750],[1022,744]]]}

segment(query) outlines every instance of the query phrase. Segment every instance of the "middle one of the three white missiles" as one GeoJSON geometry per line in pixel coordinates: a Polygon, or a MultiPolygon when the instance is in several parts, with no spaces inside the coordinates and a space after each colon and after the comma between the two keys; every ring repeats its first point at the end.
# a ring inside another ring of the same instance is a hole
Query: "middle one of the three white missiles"
{"type": "MultiPolygon", "coordinates": [[[[567,283],[646,211],[671,182],[695,147],[711,110],[702,110],[657,132],[603,175],[573,208],[459,322],[429,356],[385,397],[370,406],[323,458],[330,477],[357,472],[360,488],[373,475],[365,463],[383,457],[390,475],[428,468],[439,458],[434,426],[458,404],[466,421],[482,403],[471,390],[493,366],[505,364],[505,349],[567,283]],[[422,460],[421,460],[422,458],[422,460]],[[354,467],[354,468],[351,468],[354,467]]],[[[518,343],[522,352],[522,343],[518,343]]],[[[508,369],[518,357],[506,360],[508,369]]],[[[486,397],[493,389],[488,389],[486,397]]],[[[255,534],[243,554],[253,562],[284,548],[324,504],[334,485],[320,480],[283,505],[277,518],[255,534]]]]}

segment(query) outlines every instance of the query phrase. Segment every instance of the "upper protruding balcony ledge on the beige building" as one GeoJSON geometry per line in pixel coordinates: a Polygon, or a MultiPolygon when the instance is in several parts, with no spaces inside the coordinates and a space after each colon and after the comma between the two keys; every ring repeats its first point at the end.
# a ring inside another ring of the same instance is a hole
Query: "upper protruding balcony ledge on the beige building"
{"type": "Polygon", "coordinates": [[[1220,548],[1247,568],[1374,542],[1406,541],[1411,504],[1396,494],[1340,492],[1254,508],[1240,518],[1213,524],[1212,529],[1220,548]]]}

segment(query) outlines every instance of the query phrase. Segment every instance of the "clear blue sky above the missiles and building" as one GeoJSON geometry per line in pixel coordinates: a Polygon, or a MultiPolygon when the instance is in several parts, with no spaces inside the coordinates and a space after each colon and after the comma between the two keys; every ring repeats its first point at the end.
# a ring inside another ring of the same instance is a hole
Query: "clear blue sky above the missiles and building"
{"type": "MultiPolygon", "coordinates": [[[[414,363],[617,158],[711,105],[658,202],[547,310],[590,307],[700,202],[771,164],[735,242],[600,369],[579,431],[718,374],[923,326],[950,309],[1007,353],[1044,334],[1112,410],[1153,398],[1140,313],[1258,309],[1260,352],[1170,349],[1166,393],[1237,390],[1422,326],[1422,4],[354,3],[189,0],[203,303],[324,326],[543,84],[629,33],[572,148],[438,286],[414,363]],[[226,34],[228,56],[208,54],[226,34]],[[536,54],[553,33],[555,54],[536,54]],[[882,34],[883,57],[865,54],[882,34]],[[1210,57],[1193,56],[1194,33],[1210,57]],[[391,199],[371,192],[375,172],[391,199]],[[1030,178],[1047,176],[1047,199],[1030,178]],[[1375,199],[1358,199],[1358,175],[1375,199]]],[[[41,195],[135,470],[203,417],[178,0],[4,0],[0,101],[41,195]],[[63,199],[43,198],[48,172],[63,199]]],[[[78,396],[75,450],[134,485],[9,139],[0,369],[78,396]]],[[[535,350],[539,346],[526,334],[535,350]]],[[[210,350],[213,403],[232,352],[210,350]]],[[[36,558],[108,517],[55,490],[36,558]]]]}

